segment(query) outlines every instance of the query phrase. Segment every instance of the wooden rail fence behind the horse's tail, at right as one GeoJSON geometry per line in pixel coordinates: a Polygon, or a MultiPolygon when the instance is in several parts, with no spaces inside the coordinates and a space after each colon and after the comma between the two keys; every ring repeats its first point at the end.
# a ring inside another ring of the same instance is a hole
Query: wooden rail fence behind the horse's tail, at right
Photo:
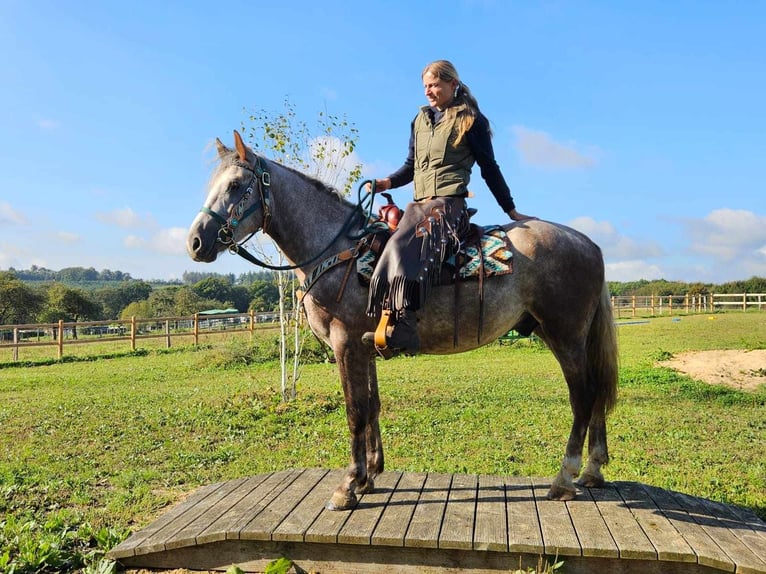
{"type": "Polygon", "coordinates": [[[704,295],[629,295],[612,297],[615,318],[656,317],[732,310],[766,310],[766,293],[704,295]]]}

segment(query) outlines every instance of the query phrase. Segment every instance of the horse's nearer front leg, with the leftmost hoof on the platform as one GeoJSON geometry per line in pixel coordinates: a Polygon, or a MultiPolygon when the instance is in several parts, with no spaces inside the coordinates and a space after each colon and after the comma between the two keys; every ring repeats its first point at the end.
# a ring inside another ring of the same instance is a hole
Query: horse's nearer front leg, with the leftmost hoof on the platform
{"type": "Polygon", "coordinates": [[[335,349],[343,394],[346,422],[351,433],[351,462],[340,485],[327,502],[329,510],[347,510],[356,506],[356,490],[367,484],[367,435],[370,419],[368,379],[369,352],[359,343],[346,341],[335,349]]]}

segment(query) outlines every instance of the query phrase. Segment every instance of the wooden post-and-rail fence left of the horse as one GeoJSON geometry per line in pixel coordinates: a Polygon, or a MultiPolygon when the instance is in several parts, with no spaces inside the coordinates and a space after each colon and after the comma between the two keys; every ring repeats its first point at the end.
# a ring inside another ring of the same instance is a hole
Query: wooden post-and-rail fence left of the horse
{"type": "MultiPolygon", "coordinates": [[[[27,325],[0,325],[0,349],[11,349],[12,360],[19,360],[19,350],[35,347],[56,347],[57,357],[64,356],[64,347],[94,343],[127,341],[135,351],[139,340],[164,340],[169,348],[173,339],[191,339],[199,345],[200,339],[210,335],[250,333],[279,321],[277,313],[222,313],[200,314],[186,317],[158,317],[154,319],[120,319],[116,321],[83,321],[35,323],[27,325]]],[[[2,362],[2,361],[0,361],[2,362]]]]}

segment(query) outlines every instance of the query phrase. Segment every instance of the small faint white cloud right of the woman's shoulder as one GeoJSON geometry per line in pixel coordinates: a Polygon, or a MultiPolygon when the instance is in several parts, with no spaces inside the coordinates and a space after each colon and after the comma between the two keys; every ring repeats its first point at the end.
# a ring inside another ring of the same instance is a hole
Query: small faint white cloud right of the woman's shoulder
{"type": "Polygon", "coordinates": [[[515,126],[513,131],[516,134],[516,149],[524,164],[551,169],[583,169],[598,163],[596,149],[581,151],[575,143],[562,144],[550,134],[522,126],[515,126]]]}

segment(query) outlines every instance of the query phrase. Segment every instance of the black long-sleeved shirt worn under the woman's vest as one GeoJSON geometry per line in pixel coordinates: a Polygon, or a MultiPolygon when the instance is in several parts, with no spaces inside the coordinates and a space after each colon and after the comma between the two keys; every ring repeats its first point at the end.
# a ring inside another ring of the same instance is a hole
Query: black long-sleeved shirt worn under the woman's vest
{"type": "MultiPolygon", "coordinates": [[[[440,112],[436,108],[429,109],[432,121],[434,124],[438,123],[443,116],[443,112],[440,112]]],[[[492,147],[492,138],[489,130],[489,120],[486,116],[479,112],[474,119],[471,129],[469,129],[465,136],[468,148],[471,150],[476,163],[479,165],[482,179],[487,183],[487,187],[495,196],[500,208],[508,213],[514,209],[515,204],[511,197],[511,190],[508,184],[505,182],[500,166],[497,165],[495,160],[495,151],[492,147]]],[[[410,183],[415,177],[415,120],[412,120],[410,125],[410,144],[409,152],[407,153],[407,159],[404,160],[404,165],[392,173],[389,178],[391,179],[391,187],[402,187],[410,183]]]]}

